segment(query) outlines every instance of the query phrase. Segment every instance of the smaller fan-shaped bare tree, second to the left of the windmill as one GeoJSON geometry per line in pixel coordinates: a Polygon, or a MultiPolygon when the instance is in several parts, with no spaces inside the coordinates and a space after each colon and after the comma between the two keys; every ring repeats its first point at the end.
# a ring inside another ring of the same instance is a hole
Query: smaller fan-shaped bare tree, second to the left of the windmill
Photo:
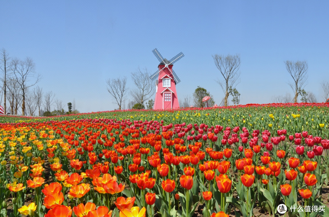
{"type": "Polygon", "coordinates": [[[122,104],[126,99],[125,95],[128,91],[128,88],[126,88],[126,83],[127,77],[118,77],[114,79],[108,79],[106,81],[107,91],[109,91],[116,105],[118,105],[119,110],[121,110],[122,104]]]}

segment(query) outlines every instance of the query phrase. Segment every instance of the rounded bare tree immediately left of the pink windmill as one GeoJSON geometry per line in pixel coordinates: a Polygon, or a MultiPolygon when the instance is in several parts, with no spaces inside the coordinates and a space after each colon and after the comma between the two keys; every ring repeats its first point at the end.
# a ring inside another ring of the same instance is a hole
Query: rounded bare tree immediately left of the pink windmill
{"type": "Polygon", "coordinates": [[[155,83],[150,79],[150,73],[147,69],[141,70],[139,67],[136,72],[131,73],[136,88],[131,90],[130,94],[134,101],[144,106],[144,102],[150,99],[155,92],[155,83]]]}

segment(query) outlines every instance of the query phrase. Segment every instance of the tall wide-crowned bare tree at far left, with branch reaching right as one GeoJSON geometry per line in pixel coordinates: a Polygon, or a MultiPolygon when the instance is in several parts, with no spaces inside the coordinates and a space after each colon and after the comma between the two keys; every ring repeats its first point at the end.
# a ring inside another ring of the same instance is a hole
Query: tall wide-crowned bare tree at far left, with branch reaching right
{"type": "Polygon", "coordinates": [[[35,64],[33,60],[28,57],[25,60],[19,60],[18,58],[14,58],[12,61],[11,68],[22,92],[22,115],[25,115],[25,91],[29,87],[32,87],[37,84],[40,81],[41,76],[37,75],[37,77],[35,77],[35,64]],[[31,78],[36,79],[35,82],[29,83],[31,78]]]}

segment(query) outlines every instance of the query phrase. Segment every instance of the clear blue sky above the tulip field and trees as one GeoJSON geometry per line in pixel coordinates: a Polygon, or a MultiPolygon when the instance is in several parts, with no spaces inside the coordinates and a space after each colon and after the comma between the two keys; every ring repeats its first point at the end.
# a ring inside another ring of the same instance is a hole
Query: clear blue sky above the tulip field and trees
{"type": "MultiPolygon", "coordinates": [[[[329,81],[328,1],[3,1],[0,48],[31,57],[39,86],[80,112],[117,108],[106,79],[138,67],[151,72],[157,48],[181,79],[178,97],[206,88],[219,104],[224,94],[213,54],[241,56],[240,103],[270,103],[291,92],[285,60],[306,60],[308,85],[322,102],[329,81]]],[[[230,99],[231,100],[231,99],[230,99]]],[[[232,104],[232,102],[230,102],[232,104]]],[[[67,109],[67,108],[66,108],[67,109]]]]}

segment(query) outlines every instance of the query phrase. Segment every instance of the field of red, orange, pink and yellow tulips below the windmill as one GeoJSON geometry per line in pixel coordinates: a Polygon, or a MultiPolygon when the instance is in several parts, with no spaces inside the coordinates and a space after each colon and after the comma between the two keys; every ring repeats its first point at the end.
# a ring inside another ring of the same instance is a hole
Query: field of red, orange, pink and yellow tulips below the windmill
{"type": "Polygon", "coordinates": [[[327,217],[329,103],[0,116],[0,163],[0,216],[327,217]]]}

